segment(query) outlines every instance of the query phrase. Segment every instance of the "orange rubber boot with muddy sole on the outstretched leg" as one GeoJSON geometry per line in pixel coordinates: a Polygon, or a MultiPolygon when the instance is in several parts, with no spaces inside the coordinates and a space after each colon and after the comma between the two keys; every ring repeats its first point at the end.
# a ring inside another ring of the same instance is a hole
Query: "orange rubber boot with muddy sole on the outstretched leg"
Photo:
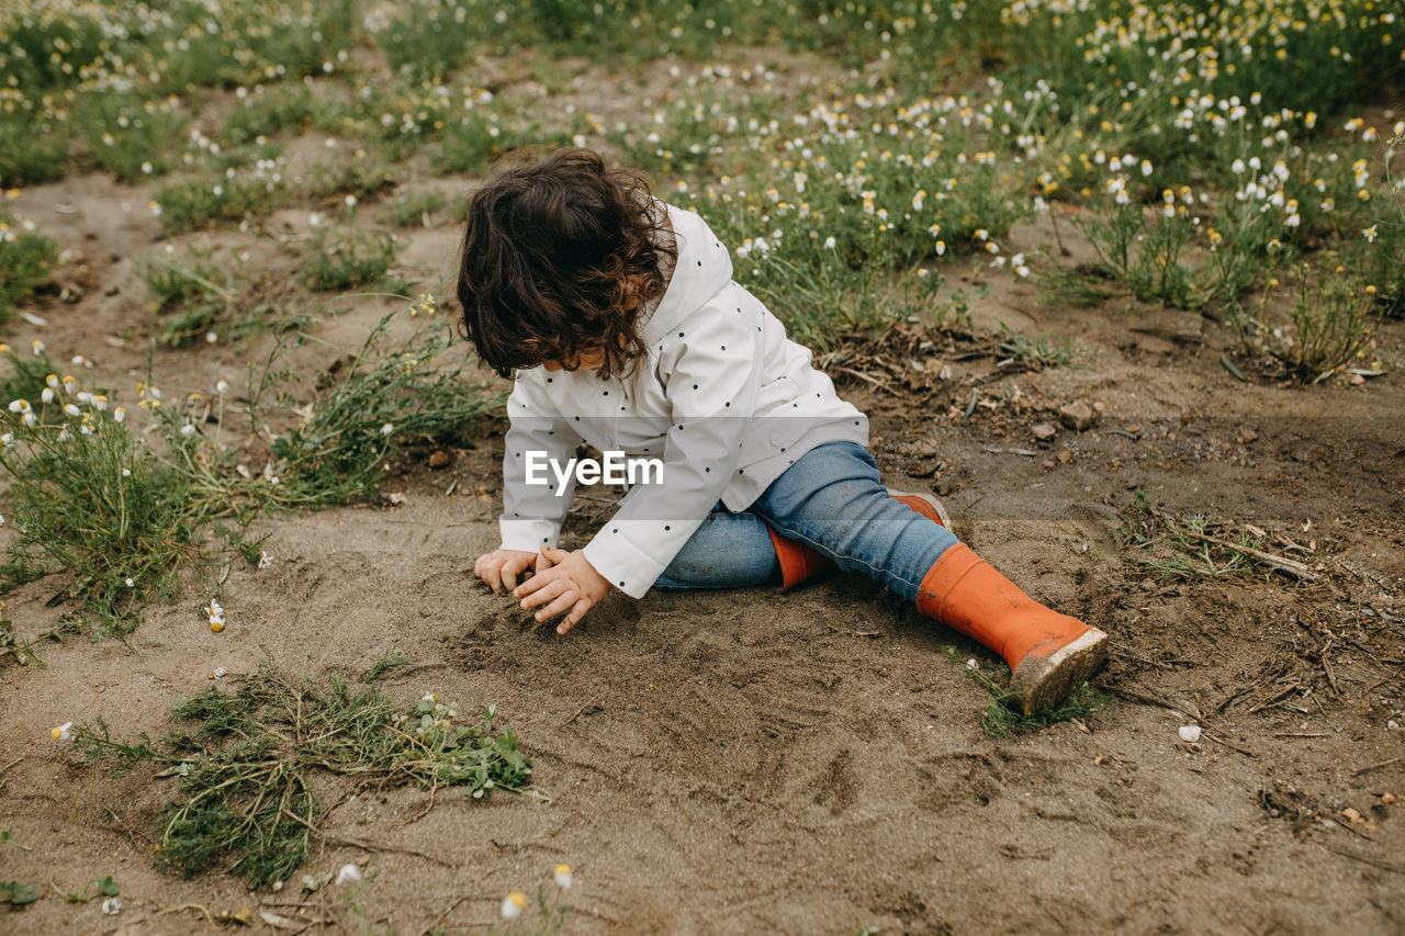
{"type": "Polygon", "coordinates": [[[1107,634],[1044,607],[964,544],[922,579],[917,610],[1003,656],[1026,715],[1068,696],[1107,658],[1107,634]]]}

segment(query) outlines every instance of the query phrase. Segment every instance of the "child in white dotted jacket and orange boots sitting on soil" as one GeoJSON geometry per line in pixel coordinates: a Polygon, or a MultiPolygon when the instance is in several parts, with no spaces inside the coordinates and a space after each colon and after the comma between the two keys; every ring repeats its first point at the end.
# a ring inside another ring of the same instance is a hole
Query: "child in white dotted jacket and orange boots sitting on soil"
{"type": "Polygon", "coordinates": [[[837,565],[1000,654],[1026,714],[1103,661],[1106,634],[1026,596],[933,498],[882,486],[864,415],[732,280],[707,223],[639,177],[584,149],[500,169],[469,204],[458,297],[482,360],[516,371],[502,545],[473,573],[538,621],[565,614],[558,634],[610,589],[788,589],[837,565]],[[576,476],[541,468],[580,443],[662,469],[565,551],[576,476]]]}

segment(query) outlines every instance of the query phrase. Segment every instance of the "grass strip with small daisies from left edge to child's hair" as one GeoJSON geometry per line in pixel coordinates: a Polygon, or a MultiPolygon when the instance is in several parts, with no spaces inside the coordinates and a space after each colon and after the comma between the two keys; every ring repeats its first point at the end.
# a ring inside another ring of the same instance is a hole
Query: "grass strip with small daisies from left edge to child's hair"
{"type": "Polygon", "coordinates": [[[451,349],[452,325],[426,311],[433,305],[422,297],[405,311],[417,326],[399,342],[389,327],[402,312],[386,315],[316,385],[299,385],[284,365],[303,336],[280,336],[250,374],[247,406],[225,392],[208,401],[163,394],[150,381],[136,405],[122,406],[44,354],[6,356],[13,403],[0,410],[0,474],[14,538],[0,589],[62,575],[79,624],[125,634],[146,602],[174,600],[183,562],[208,575],[216,561],[257,557],[240,530],[260,512],[374,493],[388,455],[451,438],[502,405],[464,379],[466,346],[451,349]],[[267,471],[240,471],[244,461],[267,471]],[[218,535],[198,535],[204,530],[218,535]]]}

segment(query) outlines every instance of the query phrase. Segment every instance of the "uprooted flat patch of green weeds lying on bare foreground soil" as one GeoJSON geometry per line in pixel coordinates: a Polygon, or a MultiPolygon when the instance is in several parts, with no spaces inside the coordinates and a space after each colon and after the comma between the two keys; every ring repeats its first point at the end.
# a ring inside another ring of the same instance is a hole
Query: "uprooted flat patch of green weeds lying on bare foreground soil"
{"type": "MultiPolygon", "coordinates": [[[[171,708],[180,727],[159,742],[115,741],[101,718],[74,743],[119,773],[160,767],[176,794],[160,814],[156,866],[192,877],[219,867],[250,887],[287,881],[311,854],[326,805],[323,773],[364,786],[534,793],[531,762],[496,710],[459,724],[457,707],[426,696],[398,707],[378,689],[288,676],[270,665],[235,693],[209,689],[171,708]]],[[[374,846],[372,846],[374,847],[374,846]]]]}

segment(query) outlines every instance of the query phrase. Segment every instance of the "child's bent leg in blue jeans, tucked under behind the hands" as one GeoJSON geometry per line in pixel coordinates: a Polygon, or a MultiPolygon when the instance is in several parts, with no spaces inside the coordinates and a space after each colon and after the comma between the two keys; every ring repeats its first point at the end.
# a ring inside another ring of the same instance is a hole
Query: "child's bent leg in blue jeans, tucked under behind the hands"
{"type": "Polygon", "coordinates": [[[770,528],[754,513],[731,513],[717,505],[663,575],[665,589],[736,589],[780,582],[770,528]]]}

